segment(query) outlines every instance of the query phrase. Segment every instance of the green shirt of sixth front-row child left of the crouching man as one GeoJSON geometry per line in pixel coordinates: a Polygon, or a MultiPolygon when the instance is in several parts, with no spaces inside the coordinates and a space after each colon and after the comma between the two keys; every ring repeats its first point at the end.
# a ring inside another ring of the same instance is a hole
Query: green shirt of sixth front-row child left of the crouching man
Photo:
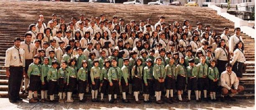
{"type": "Polygon", "coordinates": [[[155,77],[156,80],[165,79],[166,77],[165,66],[155,65],[153,67],[153,76],[155,77]]]}

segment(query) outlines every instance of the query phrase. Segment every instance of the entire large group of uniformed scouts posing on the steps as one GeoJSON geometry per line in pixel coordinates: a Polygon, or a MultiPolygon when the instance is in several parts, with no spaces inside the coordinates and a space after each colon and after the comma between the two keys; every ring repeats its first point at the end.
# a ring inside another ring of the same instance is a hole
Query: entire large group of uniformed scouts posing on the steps
{"type": "Polygon", "coordinates": [[[117,23],[117,16],[112,21],[105,17],[92,16],[90,21],[82,14],[79,21],[72,18],[66,26],[64,17],[58,23],[53,14],[46,27],[43,15],[39,15],[38,23],[31,24],[25,33],[24,42],[17,37],[15,46],[6,51],[10,102],[21,100],[17,93],[25,90],[30,103],[39,101],[37,92],[41,90],[41,102],[74,102],[73,92],[78,93],[79,102],[86,102],[84,94],[90,91],[92,102],[104,102],[104,94],[108,94],[108,101],[116,103],[122,93],[125,103],[130,102],[127,94],[141,103],[138,97],[142,94],[144,103],[155,97],[157,104],[188,102],[191,92],[201,102],[202,91],[205,101],[207,91],[212,101],[218,101],[219,91],[221,101],[224,95],[235,100],[233,96],[243,91],[238,85],[245,70],[240,28],[229,37],[227,27],[218,36],[209,25],[202,32],[201,23],[192,30],[188,20],[183,26],[177,21],[166,25],[164,16],[155,26],[150,25],[151,19],[147,25],[143,20],[139,24],[132,20],[123,26],[123,19],[117,23]],[[161,100],[162,92],[165,100],[161,100]]]}

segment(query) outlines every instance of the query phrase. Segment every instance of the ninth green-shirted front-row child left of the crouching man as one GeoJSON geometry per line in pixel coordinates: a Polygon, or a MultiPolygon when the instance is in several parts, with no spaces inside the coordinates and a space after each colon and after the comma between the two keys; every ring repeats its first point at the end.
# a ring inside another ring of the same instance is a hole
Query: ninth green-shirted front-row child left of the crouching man
{"type": "Polygon", "coordinates": [[[123,59],[123,67],[121,68],[121,84],[122,84],[122,95],[123,95],[123,102],[129,103],[130,101],[126,99],[126,93],[129,92],[129,84],[128,80],[130,78],[129,70],[128,70],[128,64],[129,64],[129,59],[125,57],[123,59]]]}

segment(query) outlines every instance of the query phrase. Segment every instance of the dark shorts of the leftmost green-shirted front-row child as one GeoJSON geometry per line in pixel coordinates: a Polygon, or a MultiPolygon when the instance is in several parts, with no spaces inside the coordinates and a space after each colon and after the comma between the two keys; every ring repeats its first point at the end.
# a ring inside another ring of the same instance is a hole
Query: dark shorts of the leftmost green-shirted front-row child
{"type": "Polygon", "coordinates": [[[28,90],[38,91],[41,87],[41,76],[30,75],[28,90]]]}

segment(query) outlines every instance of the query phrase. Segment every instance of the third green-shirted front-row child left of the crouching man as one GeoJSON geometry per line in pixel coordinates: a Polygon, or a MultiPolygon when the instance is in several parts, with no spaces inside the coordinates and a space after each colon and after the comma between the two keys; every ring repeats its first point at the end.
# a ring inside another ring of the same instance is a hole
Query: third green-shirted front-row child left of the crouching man
{"type": "Polygon", "coordinates": [[[197,102],[198,100],[198,84],[197,84],[197,76],[198,76],[198,71],[197,67],[195,67],[195,60],[194,59],[189,59],[188,60],[189,66],[187,67],[187,73],[188,73],[188,102],[190,101],[190,94],[191,90],[195,91],[195,99],[197,102]]]}

